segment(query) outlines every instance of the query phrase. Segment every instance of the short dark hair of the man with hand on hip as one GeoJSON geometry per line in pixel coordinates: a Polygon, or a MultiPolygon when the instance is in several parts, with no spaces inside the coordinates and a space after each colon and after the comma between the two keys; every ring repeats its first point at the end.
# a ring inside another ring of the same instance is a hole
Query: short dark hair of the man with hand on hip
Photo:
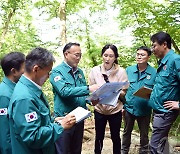
{"type": "Polygon", "coordinates": [[[171,49],[171,36],[168,33],[165,32],[158,32],[151,36],[151,41],[157,42],[159,45],[162,45],[164,42],[167,43],[167,47],[171,49]]]}

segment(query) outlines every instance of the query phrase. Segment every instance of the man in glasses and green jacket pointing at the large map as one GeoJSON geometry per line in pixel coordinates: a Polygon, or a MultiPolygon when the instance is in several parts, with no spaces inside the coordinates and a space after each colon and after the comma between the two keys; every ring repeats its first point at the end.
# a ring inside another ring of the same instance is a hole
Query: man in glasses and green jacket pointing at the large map
{"type": "MultiPolygon", "coordinates": [[[[87,86],[83,71],[77,67],[81,59],[78,43],[68,43],[63,49],[64,61],[52,70],[50,82],[54,92],[55,116],[65,116],[78,106],[86,108],[86,96],[98,88],[87,86]]],[[[84,122],[64,131],[58,142],[60,154],[81,154],[84,122]]]]}

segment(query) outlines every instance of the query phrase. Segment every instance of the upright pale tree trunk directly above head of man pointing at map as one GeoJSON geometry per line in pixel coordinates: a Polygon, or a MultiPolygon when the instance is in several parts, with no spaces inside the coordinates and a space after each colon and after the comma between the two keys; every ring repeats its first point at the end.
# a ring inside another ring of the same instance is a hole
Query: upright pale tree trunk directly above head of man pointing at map
{"type": "Polygon", "coordinates": [[[67,38],[66,38],[66,0],[60,0],[59,18],[60,18],[60,46],[64,46],[67,42],[67,38]]]}

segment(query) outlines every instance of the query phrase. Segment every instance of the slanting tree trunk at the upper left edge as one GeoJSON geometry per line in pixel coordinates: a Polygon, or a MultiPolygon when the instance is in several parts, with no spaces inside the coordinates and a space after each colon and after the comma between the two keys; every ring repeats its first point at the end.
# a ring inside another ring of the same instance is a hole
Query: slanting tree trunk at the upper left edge
{"type": "Polygon", "coordinates": [[[2,35],[0,37],[0,49],[2,47],[2,44],[5,40],[5,36],[7,34],[7,31],[8,31],[8,28],[9,28],[9,24],[10,24],[10,21],[11,21],[11,18],[12,16],[15,14],[15,11],[16,9],[14,8],[9,14],[8,14],[8,18],[7,18],[7,21],[5,22],[4,24],[4,27],[3,27],[3,32],[2,32],[2,35]]]}

